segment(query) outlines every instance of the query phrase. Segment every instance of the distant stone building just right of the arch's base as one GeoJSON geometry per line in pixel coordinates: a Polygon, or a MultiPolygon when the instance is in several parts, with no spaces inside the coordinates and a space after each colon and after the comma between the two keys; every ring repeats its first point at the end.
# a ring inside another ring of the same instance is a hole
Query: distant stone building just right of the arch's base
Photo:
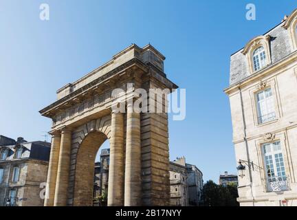
{"type": "Polygon", "coordinates": [[[170,162],[170,205],[199,206],[203,189],[203,174],[185,157],[170,162]]]}

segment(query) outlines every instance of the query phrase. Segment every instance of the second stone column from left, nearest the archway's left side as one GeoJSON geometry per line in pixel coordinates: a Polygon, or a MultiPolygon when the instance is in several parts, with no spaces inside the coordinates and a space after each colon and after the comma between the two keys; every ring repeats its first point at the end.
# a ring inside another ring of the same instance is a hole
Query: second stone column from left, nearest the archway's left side
{"type": "Polygon", "coordinates": [[[67,206],[71,140],[72,132],[67,128],[62,129],[54,206],[67,206]]]}

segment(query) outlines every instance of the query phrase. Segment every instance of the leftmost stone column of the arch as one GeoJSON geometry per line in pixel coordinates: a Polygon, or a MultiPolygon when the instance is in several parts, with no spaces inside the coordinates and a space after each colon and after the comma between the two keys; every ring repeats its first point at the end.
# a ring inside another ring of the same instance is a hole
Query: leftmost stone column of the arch
{"type": "Polygon", "coordinates": [[[47,171],[47,185],[45,189],[44,206],[54,206],[54,193],[56,190],[56,175],[58,172],[58,156],[60,152],[61,133],[54,131],[52,135],[52,146],[50,151],[50,162],[47,171]]]}

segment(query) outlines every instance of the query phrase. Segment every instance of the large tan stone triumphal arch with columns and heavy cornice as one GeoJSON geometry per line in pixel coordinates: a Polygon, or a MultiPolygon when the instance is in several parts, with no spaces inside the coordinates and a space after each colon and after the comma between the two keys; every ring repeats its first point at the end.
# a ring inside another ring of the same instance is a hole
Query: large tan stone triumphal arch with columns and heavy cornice
{"type": "MultiPolygon", "coordinates": [[[[170,204],[167,113],[131,111],[133,104],[124,104],[125,112],[113,111],[116,97],[112,92],[117,88],[126,93],[137,88],[176,89],[164,74],[164,60],[153,46],[133,44],[58,89],[56,102],[40,111],[52,119],[45,206],[92,205],[95,157],[107,139],[108,205],[170,204]]],[[[124,96],[122,102],[128,99],[136,98],[124,96]]],[[[166,96],[161,100],[166,107],[166,96]]]]}

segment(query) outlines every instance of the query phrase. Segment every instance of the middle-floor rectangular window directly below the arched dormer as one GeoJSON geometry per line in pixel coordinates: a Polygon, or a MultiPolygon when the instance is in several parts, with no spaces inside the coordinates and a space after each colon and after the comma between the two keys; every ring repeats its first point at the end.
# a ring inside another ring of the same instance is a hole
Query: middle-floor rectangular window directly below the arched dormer
{"type": "Polygon", "coordinates": [[[276,119],[272,89],[268,88],[256,94],[258,123],[263,124],[276,119]]]}

